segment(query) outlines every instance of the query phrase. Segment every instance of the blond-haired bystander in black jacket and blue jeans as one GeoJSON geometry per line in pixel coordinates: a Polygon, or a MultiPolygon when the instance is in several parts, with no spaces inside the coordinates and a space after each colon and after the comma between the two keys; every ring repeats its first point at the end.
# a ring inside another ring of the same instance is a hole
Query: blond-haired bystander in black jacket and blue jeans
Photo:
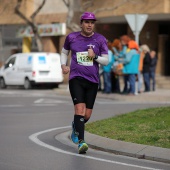
{"type": "Polygon", "coordinates": [[[144,58],[143,58],[143,80],[144,80],[144,92],[149,92],[150,91],[150,65],[151,65],[151,57],[150,57],[150,49],[148,45],[143,44],[141,45],[141,50],[144,52],[144,58]]]}

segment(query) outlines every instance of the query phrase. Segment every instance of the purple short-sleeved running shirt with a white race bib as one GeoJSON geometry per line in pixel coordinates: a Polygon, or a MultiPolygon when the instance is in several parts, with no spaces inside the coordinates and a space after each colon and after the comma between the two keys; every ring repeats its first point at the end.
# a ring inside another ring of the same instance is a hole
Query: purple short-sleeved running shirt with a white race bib
{"type": "Polygon", "coordinates": [[[85,37],[81,32],[73,32],[66,37],[64,49],[71,51],[69,80],[83,77],[99,83],[99,64],[87,56],[90,46],[98,56],[108,54],[106,38],[101,34],[94,33],[91,37],[85,37]]]}

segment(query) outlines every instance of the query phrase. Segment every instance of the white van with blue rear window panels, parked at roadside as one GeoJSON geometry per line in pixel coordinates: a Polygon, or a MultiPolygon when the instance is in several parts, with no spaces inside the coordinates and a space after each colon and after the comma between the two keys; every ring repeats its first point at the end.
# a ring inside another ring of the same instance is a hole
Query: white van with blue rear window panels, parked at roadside
{"type": "Polygon", "coordinates": [[[60,55],[57,53],[18,53],[10,56],[0,69],[0,87],[36,84],[58,87],[63,82],[60,55]]]}

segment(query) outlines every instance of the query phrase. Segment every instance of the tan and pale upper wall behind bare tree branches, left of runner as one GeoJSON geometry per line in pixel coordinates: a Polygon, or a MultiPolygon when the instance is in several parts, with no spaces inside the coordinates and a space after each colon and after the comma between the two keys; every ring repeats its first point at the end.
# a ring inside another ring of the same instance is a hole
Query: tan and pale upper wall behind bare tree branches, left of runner
{"type": "MultiPolygon", "coordinates": [[[[26,17],[38,8],[42,0],[23,0],[21,3],[21,12],[26,17]]],[[[25,21],[15,14],[14,9],[17,5],[17,0],[0,1],[0,25],[3,24],[25,24],[25,21]]],[[[65,22],[67,17],[67,8],[61,0],[46,0],[42,10],[35,18],[37,23],[54,23],[65,22]]]]}

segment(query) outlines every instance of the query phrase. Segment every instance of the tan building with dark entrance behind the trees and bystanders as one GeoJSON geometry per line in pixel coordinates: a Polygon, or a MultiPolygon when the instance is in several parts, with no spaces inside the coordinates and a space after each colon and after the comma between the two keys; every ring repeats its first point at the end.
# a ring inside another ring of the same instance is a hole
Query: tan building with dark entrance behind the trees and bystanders
{"type": "MultiPolygon", "coordinates": [[[[21,11],[24,15],[30,17],[41,2],[42,0],[23,0],[21,11]]],[[[9,33],[6,33],[6,35],[5,30],[12,28],[12,26],[17,27],[12,31],[14,38],[16,38],[15,35],[18,29],[25,25],[25,21],[14,13],[16,4],[17,0],[0,1],[0,28],[2,34],[0,50],[9,45],[9,41],[13,41],[7,38],[9,33]]],[[[127,2],[123,0],[94,0],[88,11],[96,11],[96,17],[98,18],[96,31],[110,40],[119,38],[123,34],[128,34],[135,39],[125,19],[125,14],[147,14],[148,19],[140,32],[139,43],[147,44],[151,49],[157,51],[159,58],[157,74],[170,75],[170,0],[132,0],[127,2]]],[[[68,10],[63,1],[46,0],[46,4],[36,17],[36,23],[65,23],[67,12],[68,10]]],[[[68,31],[65,35],[42,36],[44,51],[60,52],[68,31]]],[[[18,46],[22,46],[22,38],[16,38],[14,43],[16,42],[19,42],[18,46]]]]}

